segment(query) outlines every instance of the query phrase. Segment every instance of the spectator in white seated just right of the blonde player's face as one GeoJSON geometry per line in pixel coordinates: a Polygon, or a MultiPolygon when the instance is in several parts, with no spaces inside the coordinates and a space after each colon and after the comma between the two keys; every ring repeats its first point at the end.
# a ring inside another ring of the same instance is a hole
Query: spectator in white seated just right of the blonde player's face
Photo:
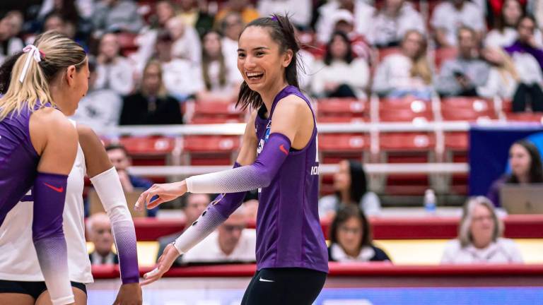
{"type": "Polygon", "coordinates": [[[130,61],[119,55],[119,40],[115,33],[107,33],[100,39],[96,62],[96,89],[111,89],[119,95],[132,92],[134,70],[130,61]]]}

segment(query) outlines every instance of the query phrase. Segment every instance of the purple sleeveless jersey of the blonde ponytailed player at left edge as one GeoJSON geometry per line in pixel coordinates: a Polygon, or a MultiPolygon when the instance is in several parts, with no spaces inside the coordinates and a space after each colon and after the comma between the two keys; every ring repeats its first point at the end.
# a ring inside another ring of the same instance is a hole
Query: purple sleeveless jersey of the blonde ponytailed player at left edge
{"type": "Polygon", "coordinates": [[[37,175],[40,156],[30,140],[30,114],[24,106],[21,114],[8,114],[0,121],[0,225],[33,186],[37,175]]]}

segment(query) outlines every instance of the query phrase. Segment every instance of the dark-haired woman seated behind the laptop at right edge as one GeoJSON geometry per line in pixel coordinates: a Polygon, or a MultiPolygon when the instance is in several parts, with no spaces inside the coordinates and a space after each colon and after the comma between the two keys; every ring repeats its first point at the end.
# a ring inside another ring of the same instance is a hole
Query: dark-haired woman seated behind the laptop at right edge
{"type": "Polygon", "coordinates": [[[528,140],[518,140],[509,149],[510,174],[500,177],[491,185],[488,198],[501,207],[500,189],[504,184],[543,183],[543,165],[537,147],[528,140]]]}

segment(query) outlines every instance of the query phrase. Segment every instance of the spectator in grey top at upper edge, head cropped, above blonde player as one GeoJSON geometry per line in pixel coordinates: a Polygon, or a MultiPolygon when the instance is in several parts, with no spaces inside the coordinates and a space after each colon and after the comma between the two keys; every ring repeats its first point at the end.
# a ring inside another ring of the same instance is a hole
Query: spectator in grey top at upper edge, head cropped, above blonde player
{"type": "Polygon", "coordinates": [[[144,25],[138,6],[130,0],[102,0],[93,13],[95,37],[103,32],[139,32],[144,25]]]}

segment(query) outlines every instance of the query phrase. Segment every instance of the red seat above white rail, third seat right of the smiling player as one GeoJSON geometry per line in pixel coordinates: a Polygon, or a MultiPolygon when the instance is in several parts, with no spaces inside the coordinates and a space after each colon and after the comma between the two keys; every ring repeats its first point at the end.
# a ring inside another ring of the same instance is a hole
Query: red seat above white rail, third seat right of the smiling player
{"type": "Polygon", "coordinates": [[[494,101],[480,97],[446,97],[441,102],[445,121],[479,121],[498,119],[494,101]]]}

